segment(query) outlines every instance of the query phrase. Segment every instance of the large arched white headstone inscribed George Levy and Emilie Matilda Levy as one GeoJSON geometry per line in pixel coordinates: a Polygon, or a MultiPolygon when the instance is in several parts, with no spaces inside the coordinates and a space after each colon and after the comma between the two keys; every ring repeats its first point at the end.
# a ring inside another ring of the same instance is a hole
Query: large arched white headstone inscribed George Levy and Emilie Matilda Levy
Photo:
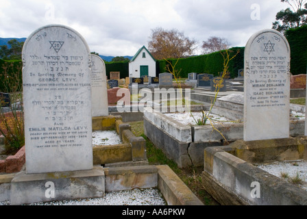
{"type": "Polygon", "coordinates": [[[27,173],[93,168],[91,57],[77,31],[48,25],[23,47],[27,173]]]}

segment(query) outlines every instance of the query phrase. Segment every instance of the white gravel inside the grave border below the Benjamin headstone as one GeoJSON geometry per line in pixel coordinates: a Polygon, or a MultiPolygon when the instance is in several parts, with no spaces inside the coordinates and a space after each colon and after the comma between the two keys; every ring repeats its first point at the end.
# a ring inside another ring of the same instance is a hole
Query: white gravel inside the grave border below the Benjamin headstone
{"type": "Polygon", "coordinates": [[[299,185],[304,190],[307,190],[307,161],[297,160],[288,162],[273,162],[271,164],[255,164],[258,168],[269,172],[275,177],[280,177],[282,173],[287,173],[289,177],[299,176],[303,184],[299,185]]]}

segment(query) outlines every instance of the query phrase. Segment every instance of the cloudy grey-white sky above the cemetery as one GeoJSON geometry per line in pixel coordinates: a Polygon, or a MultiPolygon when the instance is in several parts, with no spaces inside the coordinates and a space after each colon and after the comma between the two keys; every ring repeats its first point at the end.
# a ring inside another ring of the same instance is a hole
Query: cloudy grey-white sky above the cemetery
{"type": "Polygon", "coordinates": [[[133,56],[156,27],[177,29],[201,44],[210,36],[244,47],[275,15],[280,0],[0,0],[0,37],[27,38],[39,27],[72,27],[99,55],[133,56]]]}

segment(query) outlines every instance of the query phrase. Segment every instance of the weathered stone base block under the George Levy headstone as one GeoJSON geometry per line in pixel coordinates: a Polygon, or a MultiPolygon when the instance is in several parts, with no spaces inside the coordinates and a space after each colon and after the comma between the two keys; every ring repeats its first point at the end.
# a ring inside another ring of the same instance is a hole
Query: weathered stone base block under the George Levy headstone
{"type": "Polygon", "coordinates": [[[104,170],[100,166],[95,166],[93,170],[38,174],[19,172],[12,179],[10,197],[11,205],[22,205],[79,198],[101,198],[104,194],[104,170]]]}

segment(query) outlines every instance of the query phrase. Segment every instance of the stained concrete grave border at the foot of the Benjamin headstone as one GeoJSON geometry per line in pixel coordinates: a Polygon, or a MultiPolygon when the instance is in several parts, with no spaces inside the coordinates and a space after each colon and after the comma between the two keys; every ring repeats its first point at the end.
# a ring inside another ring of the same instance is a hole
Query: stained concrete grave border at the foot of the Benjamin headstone
{"type": "Polygon", "coordinates": [[[201,175],[204,188],[221,205],[307,205],[306,190],[253,165],[307,159],[306,141],[306,136],[238,140],[228,146],[206,148],[201,175]],[[251,196],[253,182],[259,183],[259,197],[251,196]]]}

